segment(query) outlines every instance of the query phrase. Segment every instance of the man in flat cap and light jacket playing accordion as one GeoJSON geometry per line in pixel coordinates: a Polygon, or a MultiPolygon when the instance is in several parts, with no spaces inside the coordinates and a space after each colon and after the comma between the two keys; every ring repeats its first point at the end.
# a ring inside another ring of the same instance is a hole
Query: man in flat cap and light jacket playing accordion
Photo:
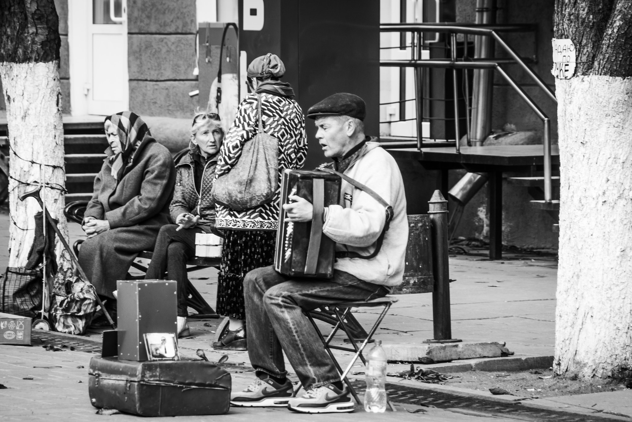
{"type": "MultiPolygon", "coordinates": [[[[303,311],[382,297],[402,282],[408,239],[404,185],[395,160],[377,139],[365,136],[365,115],[362,98],[346,93],[327,97],[308,110],[334,170],[374,190],[392,211],[343,180],[339,204],[325,208],[322,215],[322,232],[336,242],[336,251],[346,252],[346,258],[336,259],[332,278],[285,276],[273,266],[245,276],[248,354],[257,379],[231,395],[234,406],[287,406],[305,413],[353,411],[348,388],[303,311]],[[305,388],[301,397],[293,397],[283,352],[305,388]]],[[[283,205],[286,221],[312,220],[310,202],[296,195],[289,199],[293,202],[283,205]]]]}

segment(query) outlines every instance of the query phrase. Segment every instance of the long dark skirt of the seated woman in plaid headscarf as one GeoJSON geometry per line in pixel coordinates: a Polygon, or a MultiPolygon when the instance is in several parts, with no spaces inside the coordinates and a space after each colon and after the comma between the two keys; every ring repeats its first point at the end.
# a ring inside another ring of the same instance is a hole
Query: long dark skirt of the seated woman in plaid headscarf
{"type": "Polygon", "coordinates": [[[154,250],[159,230],[149,225],[112,228],[83,242],[79,264],[97,294],[114,299],[117,280],[126,280],[140,252],[154,250]]]}

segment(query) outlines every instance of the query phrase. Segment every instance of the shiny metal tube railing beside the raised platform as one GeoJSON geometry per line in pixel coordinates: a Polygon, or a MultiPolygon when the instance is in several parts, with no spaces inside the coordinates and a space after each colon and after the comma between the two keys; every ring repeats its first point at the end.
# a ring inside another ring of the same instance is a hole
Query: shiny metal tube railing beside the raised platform
{"type": "MultiPolygon", "coordinates": [[[[550,202],[552,200],[552,182],[551,182],[551,144],[550,144],[550,118],[544,111],[531,99],[525,90],[501,67],[502,63],[507,63],[506,59],[495,60],[485,59],[476,61],[458,61],[456,57],[456,34],[473,34],[473,35],[488,35],[492,37],[499,46],[511,56],[511,63],[516,63],[526,71],[527,75],[538,85],[545,94],[547,94],[557,104],[557,99],[554,92],[545,84],[544,80],[540,78],[525,61],[520,58],[518,53],[509,46],[500,35],[495,32],[495,28],[499,25],[477,25],[477,24],[437,24],[437,23],[389,23],[380,25],[380,31],[382,32],[413,32],[421,35],[422,32],[444,32],[450,34],[451,43],[451,59],[412,59],[412,60],[381,60],[380,66],[395,66],[395,67],[413,67],[413,68],[447,68],[453,69],[453,93],[454,93],[454,129],[456,138],[456,152],[460,152],[459,146],[459,111],[458,111],[458,90],[456,87],[456,71],[458,69],[495,69],[506,80],[507,84],[511,86],[518,94],[525,100],[535,114],[542,120],[543,133],[543,156],[544,156],[544,200],[550,202]]],[[[469,116],[469,113],[466,113],[469,116]]],[[[469,119],[468,119],[469,120],[469,119]]],[[[469,122],[468,122],[469,123],[469,122]]],[[[469,130],[469,129],[468,129],[469,130]]],[[[418,146],[420,148],[420,146],[418,146]]]]}

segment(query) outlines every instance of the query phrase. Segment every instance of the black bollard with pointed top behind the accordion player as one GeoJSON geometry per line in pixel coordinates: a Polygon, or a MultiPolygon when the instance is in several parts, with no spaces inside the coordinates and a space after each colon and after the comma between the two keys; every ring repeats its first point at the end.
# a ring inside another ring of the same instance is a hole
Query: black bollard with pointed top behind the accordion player
{"type": "Polygon", "coordinates": [[[440,190],[435,190],[428,201],[432,230],[432,268],[435,278],[432,292],[432,323],[434,340],[428,342],[460,342],[452,338],[450,317],[450,271],[448,264],[447,201],[440,190]]]}

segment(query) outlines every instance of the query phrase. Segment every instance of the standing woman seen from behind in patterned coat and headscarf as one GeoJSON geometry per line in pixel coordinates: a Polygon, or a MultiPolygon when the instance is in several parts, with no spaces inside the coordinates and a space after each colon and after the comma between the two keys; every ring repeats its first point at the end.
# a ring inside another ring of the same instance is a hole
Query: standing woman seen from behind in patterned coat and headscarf
{"type": "MultiPolygon", "coordinates": [[[[257,133],[257,103],[261,102],[264,132],[279,140],[279,175],[284,169],[303,167],[307,154],[305,116],[292,87],[281,82],[283,61],[268,53],[248,66],[252,92],[241,101],[217,161],[216,176],[228,173],[241,156],[241,149],[257,133]]],[[[279,186],[280,189],[280,186],[279,186]]],[[[216,227],[224,232],[217,287],[217,313],[228,316],[227,329],[214,342],[216,350],[246,350],[243,277],[248,271],[274,263],[279,191],[272,202],[236,211],[217,206],[216,227]]]]}

